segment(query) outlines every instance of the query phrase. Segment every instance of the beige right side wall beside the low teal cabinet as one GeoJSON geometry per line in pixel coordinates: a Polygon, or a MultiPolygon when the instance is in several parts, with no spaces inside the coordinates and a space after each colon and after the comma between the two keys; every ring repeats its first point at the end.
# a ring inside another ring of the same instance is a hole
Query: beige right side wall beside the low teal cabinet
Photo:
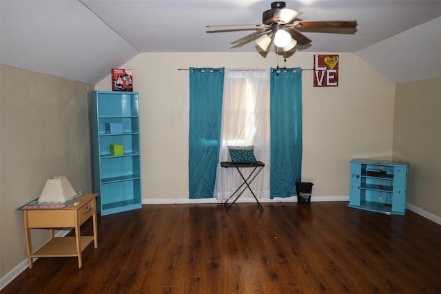
{"type": "Polygon", "coordinates": [[[441,217],[441,78],[396,86],[393,156],[410,162],[407,202],[441,217]]]}

